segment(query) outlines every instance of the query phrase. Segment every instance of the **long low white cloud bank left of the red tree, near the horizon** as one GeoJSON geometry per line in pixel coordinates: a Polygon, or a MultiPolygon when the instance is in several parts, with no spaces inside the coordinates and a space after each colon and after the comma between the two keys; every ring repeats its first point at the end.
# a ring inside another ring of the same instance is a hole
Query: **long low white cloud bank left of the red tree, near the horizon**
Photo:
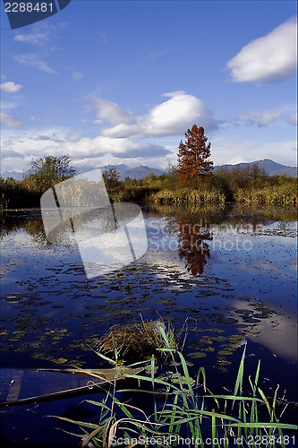
{"type": "MultiPolygon", "coordinates": [[[[112,160],[119,163],[119,159],[121,162],[131,160],[132,164],[135,159],[140,159],[139,164],[145,160],[158,159],[158,165],[161,166],[160,161],[165,161],[166,156],[172,154],[172,151],[162,144],[136,142],[132,139],[112,139],[102,135],[95,138],[79,138],[77,134],[75,139],[75,133],[69,129],[55,130],[55,134],[53,131],[53,129],[44,129],[42,133],[29,134],[6,130],[3,133],[5,149],[21,154],[20,159],[13,159],[12,167],[9,169],[15,169],[17,165],[19,169],[27,169],[26,164],[28,165],[29,158],[43,157],[47,154],[54,156],[69,154],[72,163],[77,166],[88,165],[91,168],[104,166],[109,161],[112,163],[112,160]]],[[[7,160],[5,164],[8,166],[7,160]]]]}

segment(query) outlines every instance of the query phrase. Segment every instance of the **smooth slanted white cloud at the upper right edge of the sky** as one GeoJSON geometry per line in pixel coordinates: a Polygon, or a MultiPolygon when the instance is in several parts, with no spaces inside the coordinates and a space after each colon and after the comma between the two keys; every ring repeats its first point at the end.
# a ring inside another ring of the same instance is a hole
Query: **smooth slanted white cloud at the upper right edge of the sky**
{"type": "Polygon", "coordinates": [[[296,71],[296,19],[252,40],[226,63],[234,82],[277,82],[296,71]]]}

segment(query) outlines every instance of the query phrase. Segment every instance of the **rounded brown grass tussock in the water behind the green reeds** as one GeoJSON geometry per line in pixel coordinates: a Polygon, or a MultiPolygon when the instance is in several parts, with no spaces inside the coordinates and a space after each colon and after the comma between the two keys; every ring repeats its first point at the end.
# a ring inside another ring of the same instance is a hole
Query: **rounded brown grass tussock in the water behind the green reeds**
{"type": "Polygon", "coordinates": [[[162,321],[142,321],[129,325],[114,325],[96,340],[93,349],[98,353],[115,354],[116,358],[138,361],[148,358],[160,349],[177,349],[174,329],[162,321]],[[165,332],[167,343],[162,333],[165,332]]]}

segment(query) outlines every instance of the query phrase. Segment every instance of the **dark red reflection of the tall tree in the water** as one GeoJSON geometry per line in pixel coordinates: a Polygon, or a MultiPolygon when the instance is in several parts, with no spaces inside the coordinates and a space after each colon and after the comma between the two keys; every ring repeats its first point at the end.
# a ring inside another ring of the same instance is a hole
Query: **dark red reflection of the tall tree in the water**
{"type": "Polygon", "coordinates": [[[187,271],[192,275],[202,274],[206,258],[210,256],[209,243],[212,239],[206,222],[192,222],[189,217],[179,219],[179,258],[185,261],[187,271]]]}

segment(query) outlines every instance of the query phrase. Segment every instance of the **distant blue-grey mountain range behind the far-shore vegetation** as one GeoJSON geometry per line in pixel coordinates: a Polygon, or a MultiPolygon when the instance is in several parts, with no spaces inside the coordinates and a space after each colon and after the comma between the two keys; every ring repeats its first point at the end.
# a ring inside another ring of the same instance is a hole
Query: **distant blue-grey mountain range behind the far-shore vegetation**
{"type": "MultiPolygon", "coordinates": [[[[295,167],[289,167],[286,165],[283,165],[281,163],[277,163],[271,159],[261,159],[256,160],[249,163],[237,163],[235,165],[216,165],[214,167],[214,171],[217,171],[219,168],[227,168],[227,169],[233,169],[233,168],[246,168],[246,167],[252,167],[254,164],[258,164],[259,168],[263,168],[265,172],[269,176],[282,176],[286,175],[289,177],[297,177],[297,168],[295,167]]],[[[150,168],[146,167],[145,165],[140,165],[140,167],[132,168],[129,165],[125,165],[124,163],[120,165],[106,165],[105,167],[101,167],[104,169],[109,168],[115,168],[120,173],[120,179],[124,180],[125,177],[130,177],[131,179],[142,179],[143,177],[149,175],[150,173],[155,174],[156,176],[161,176],[165,173],[165,171],[158,169],[158,168],[150,168]]],[[[76,168],[76,173],[81,174],[86,171],[86,168],[76,168]]],[[[24,176],[23,173],[20,171],[6,171],[2,174],[2,177],[13,177],[16,180],[21,180],[24,176]]]]}

